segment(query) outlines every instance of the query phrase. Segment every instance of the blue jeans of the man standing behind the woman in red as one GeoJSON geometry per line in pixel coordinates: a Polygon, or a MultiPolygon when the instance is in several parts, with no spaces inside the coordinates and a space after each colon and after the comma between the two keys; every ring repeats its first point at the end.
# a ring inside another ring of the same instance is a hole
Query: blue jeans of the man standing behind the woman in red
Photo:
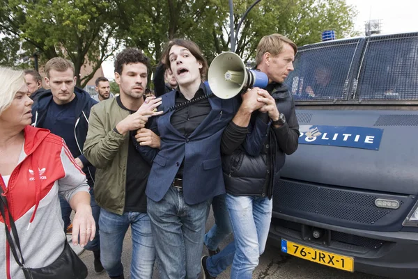
{"type": "MultiPolygon", "coordinates": [[[[65,200],[65,198],[62,198],[59,196],[59,202],[61,203],[61,216],[64,221],[64,232],[67,232],[67,228],[71,223],[70,215],[72,212],[72,208],[70,207],[70,204],[65,200]]],[[[95,237],[92,241],[88,241],[86,246],[84,246],[84,249],[90,250],[90,251],[98,251],[100,250],[100,236],[99,236],[99,216],[100,216],[100,207],[94,200],[94,191],[93,188],[90,189],[90,206],[91,206],[91,214],[93,214],[93,218],[96,225],[96,233],[95,237]]]]}

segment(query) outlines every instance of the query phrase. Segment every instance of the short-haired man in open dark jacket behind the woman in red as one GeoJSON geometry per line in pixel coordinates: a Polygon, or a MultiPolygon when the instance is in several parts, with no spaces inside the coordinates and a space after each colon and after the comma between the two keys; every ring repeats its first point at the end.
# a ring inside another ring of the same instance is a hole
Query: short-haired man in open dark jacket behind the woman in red
{"type": "MultiPolygon", "coordinates": [[[[100,263],[99,215],[100,207],[95,203],[93,186],[95,168],[88,162],[82,152],[88,131],[90,109],[97,104],[86,91],[76,88],[74,65],[61,57],[52,58],[45,64],[45,83],[51,88],[42,93],[38,102],[32,107],[33,126],[49,129],[61,136],[75,158],[77,165],[86,174],[91,194],[91,209],[95,219],[96,234],[93,241],[84,247],[93,251],[95,272],[104,269],[100,263]]],[[[71,207],[60,198],[64,230],[70,225],[71,207]]],[[[82,232],[81,232],[82,233],[82,232]]]]}

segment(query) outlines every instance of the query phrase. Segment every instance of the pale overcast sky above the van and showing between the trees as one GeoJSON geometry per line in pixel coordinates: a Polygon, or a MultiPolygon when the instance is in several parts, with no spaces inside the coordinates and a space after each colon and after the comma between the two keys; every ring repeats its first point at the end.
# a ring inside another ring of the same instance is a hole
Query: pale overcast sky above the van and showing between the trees
{"type": "MultiPolygon", "coordinates": [[[[355,30],[364,35],[364,24],[369,19],[380,19],[382,34],[418,31],[418,0],[346,0],[359,12],[355,30]]],[[[338,35],[338,34],[337,34],[338,35]]],[[[104,77],[114,79],[113,61],[102,64],[104,77]]]]}

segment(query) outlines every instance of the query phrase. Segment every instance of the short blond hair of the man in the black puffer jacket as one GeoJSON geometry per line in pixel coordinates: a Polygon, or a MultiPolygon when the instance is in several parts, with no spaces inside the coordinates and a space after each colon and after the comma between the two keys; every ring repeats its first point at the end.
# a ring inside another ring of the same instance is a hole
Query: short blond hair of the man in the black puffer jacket
{"type": "Polygon", "coordinates": [[[273,57],[279,55],[281,53],[281,50],[283,49],[284,44],[291,45],[296,54],[296,44],[288,38],[286,38],[284,35],[275,33],[271,35],[266,35],[263,38],[261,38],[257,46],[256,65],[259,65],[263,61],[263,55],[266,52],[270,53],[273,57]]]}

